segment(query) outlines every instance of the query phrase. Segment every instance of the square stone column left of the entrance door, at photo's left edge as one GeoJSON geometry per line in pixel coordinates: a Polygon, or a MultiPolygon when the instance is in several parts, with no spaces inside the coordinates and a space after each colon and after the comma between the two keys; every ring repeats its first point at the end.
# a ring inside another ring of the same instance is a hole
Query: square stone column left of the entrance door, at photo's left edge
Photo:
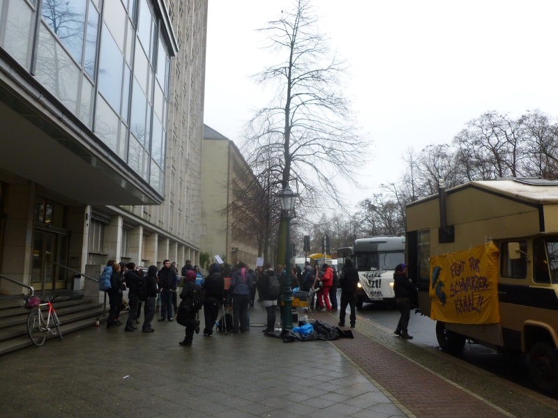
{"type": "MultiPolygon", "coordinates": [[[[24,284],[31,282],[35,192],[35,183],[10,184],[6,196],[1,272],[24,284]]],[[[0,279],[1,294],[20,295],[22,292],[27,293],[27,289],[0,279]]]]}

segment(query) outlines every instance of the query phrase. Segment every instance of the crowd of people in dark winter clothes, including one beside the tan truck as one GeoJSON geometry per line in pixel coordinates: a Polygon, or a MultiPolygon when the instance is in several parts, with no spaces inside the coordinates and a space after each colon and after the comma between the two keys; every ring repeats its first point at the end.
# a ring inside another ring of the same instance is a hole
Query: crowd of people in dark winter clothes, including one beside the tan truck
{"type": "MultiPolygon", "coordinates": [[[[193,336],[199,332],[199,309],[204,310],[204,336],[211,336],[216,327],[220,308],[232,309],[232,332],[246,332],[250,329],[250,315],[248,309],[254,307],[256,293],[257,302],[266,308],[267,323],[264,333],[275,332],[276,311],[280,311],[281,320],[283,311],[281,306],[282,292],[287,284],[293,291],[301,291],[310,295],[310,307],[317,311],[338,311],[337,291],[341,288],[340,299],[340,327],[345,326],[347,307],[350,308],[349,324],[356,326],[356,293],[359,285],[359,272],[353,266],[350,258],[345,258],[345,265],[338,275],[333,266],[328,264],[306,265],[302,270],[293,267],[289,274],[285,265],[272,268],[271,263],[258,267],[256,271],[243,262],[236,266],[229,264],[212,264],[209,274],[204,277],[197,265],[192,265],[190,260],[181,268],[179,273],[176,263],[169,260],[163,261],[163,268],[150,265],[147,271],[135,263],[116,263],[110,260],[101,274],[101,280],[110,280],[107,291],[110,311],[107,319],[107,330],[116,330],[123,325],[119,314],[124,305],[123,291],[128,289],[128,318],[126,332],[136,331],[135,325],[140,324],[142,305],[144,320],[142,332],[154,332],[151,323],[155,314],[160,313],[158,321],[172,322],[183,309],[183,322],[186,327],[186,336],[180,342],[182,346],[191,346],[193,336]],[[177,288],[181,287],[178,295],[181,304],[178,305],[177,288]],[[196,292],[203,293],[201,302],[197,306],[196,292]]],[[[407,266],[400,264],[395,268],[394,291],[395,300],[400,310],[400,320],[395,334],[405,339],[412,339],[407,332],[409,323],[410,298],[412,284],[406,277],[407,266]]],[[[100,281],[101,281],[100,280],[100,281]]],[[[224,312],[224,310],[223,310],[224,312]]],[[[224,315],[223,315],[224,316],[224,315]]],[[[225,320],[225,318],[221,318],[225,320]]],[[[225,326],[225,324],[221,324],[225,326]]]]}

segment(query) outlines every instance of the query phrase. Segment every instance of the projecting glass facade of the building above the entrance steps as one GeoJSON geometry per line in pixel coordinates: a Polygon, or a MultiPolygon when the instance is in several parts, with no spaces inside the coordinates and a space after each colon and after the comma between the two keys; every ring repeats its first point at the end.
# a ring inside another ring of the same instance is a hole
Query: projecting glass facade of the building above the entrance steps
{"type": "Polygon", "coordinates": [[[38,3],[0,0],[0,45],[163,194],[170,56],[151,1],[43,0],[35,27],[38,3]]]}

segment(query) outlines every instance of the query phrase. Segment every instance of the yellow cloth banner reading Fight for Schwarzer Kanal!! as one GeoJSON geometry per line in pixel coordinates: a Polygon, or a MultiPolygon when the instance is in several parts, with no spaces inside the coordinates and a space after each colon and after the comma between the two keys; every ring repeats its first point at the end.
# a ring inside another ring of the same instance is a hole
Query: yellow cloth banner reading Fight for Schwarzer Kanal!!
{"type": "Polygon", "coordinates": [[[430,318],[445,323],[499,323],[498,252],[488,242],[430,257],[430,318]]]}

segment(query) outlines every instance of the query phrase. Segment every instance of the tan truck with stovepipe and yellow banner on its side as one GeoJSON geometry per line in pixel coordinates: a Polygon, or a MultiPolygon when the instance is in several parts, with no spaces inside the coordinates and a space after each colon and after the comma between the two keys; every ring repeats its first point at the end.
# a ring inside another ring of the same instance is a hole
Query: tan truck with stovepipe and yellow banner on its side
{"type": "Polygon", "coordinates": [[[529,353],[536,385],[558,392],[557,181],[441,182],[437,195],[407,205],[406,245],[409,279],[443,350],[470,339],[529,353]]]}

